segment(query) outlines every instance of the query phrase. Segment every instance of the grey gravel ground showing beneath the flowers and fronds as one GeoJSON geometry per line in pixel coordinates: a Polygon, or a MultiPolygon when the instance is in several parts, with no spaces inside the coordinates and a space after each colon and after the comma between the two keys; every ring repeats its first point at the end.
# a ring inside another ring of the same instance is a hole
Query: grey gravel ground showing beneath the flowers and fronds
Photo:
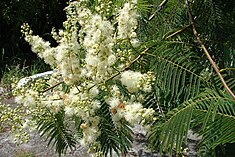
{"type": "MultiPolygon", "coordinates": [[[[3,97],[6,90],[0,87],[0,97],[3,97]]],[[[11,104],[14,107],[14,98],[7,98],[2,101],[11,104]]],[[[4,132],[0,133],[0,157],[56,157],[55,149],[47,147],[47,142],[39,137],[36,132],[31,133],[31,139],[28,143],[16,146],[13,137],[9,134],[9,128],[5,127],[4,132]],[[31,155],[31,156],[30,156],[31,155]]],[[[134,128],[134,142],[132,149],[129,150],[127,157],[158,157],[156,152],[147,149],[147,139],[145,132],[140,126],[134,128]]],[[[185,156],[196,157],[196,143],[200,140],[193,132],[189,131],[188,148],[189,152],[185,156]]],[[[77,145],[75,151],[70,151],[62,157],[90,157],[87,154],[87,148],[77,145]]],[[[166,155],[167,157],[167,155],[166,155]]]]}

